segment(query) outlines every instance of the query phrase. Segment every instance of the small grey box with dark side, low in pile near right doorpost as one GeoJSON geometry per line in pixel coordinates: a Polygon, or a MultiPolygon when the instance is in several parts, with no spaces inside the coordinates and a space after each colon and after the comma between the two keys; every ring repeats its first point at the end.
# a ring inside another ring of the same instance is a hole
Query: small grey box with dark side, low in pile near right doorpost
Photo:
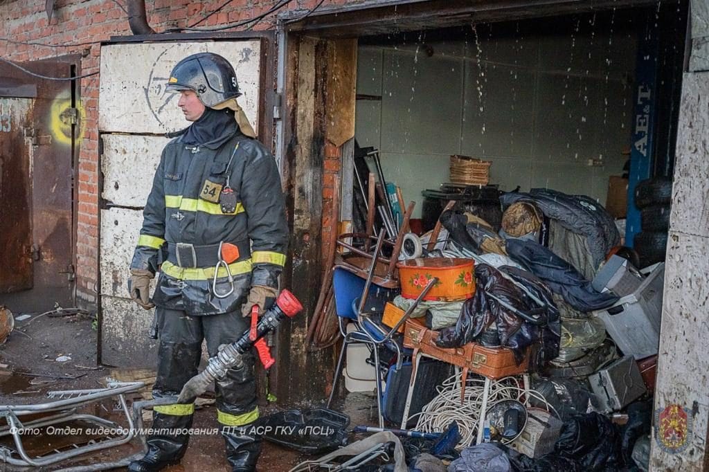
{"type": "Polygon", "coordinates": [[[603,412],[618,411],[647,391],[633,356],[625,356],[605,369],[588,376],[598,407],[603,412]]]}

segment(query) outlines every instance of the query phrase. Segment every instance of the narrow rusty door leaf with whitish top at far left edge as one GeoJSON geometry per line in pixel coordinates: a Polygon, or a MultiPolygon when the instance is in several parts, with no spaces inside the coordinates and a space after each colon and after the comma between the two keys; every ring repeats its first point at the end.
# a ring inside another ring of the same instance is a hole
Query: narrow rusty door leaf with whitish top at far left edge
{"type": "Polygon", "coordinates": [[[30,147],[33,99],[0,98],[0,293],[32,288],[30,147]]]}

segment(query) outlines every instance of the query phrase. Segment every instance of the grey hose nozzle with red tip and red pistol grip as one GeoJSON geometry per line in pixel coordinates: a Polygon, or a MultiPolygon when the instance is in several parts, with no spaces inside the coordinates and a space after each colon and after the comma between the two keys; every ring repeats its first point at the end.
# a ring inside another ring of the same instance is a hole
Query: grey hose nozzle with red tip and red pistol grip
{"type": "MultiPolygon", "coordinates": [[[[209,359],[206,368],[185,383],[177,403],[189,403],[193,398],[204,393],[214,381],[223,378],[227,369],[241,366],[242,355],[245,352],[255,346],[264,335],[274,331],[283,320],[293,318],[301,310],[303,310],[303,305],[293,293],[287,290],[282,291],[276,299],[276,303],[266,310],[255,327],[247,330],[238,341],[220,346],[218,354],[209,359]]],[[[257,349],[264,366],[273,363],[264,342],[258,343],[257,349]]]]}

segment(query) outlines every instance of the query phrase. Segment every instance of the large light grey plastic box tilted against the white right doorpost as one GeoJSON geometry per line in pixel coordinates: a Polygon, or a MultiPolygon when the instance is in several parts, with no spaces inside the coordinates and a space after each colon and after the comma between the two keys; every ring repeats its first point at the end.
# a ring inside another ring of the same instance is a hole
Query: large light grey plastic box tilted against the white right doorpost
{"type": "Polygon", "coordinates": [[[603,320],[605,330],[623,354],[635,359],[657,354],[663,289],[664,263],[660,263],[633,293],[610,308],[593,312],[603,320]]]}

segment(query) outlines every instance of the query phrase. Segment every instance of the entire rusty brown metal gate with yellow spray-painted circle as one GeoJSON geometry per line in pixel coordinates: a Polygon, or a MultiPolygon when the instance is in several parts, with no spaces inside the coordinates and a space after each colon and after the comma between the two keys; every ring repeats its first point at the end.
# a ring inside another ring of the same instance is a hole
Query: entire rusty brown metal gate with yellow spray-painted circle
{"type": "Polygon", "coordinates": [[[69,79],[62,81],[0,67],[0,83],[11,84],[0,86],[1,113],[10,117],[0,128],[11,129],[9,139],[0,134],[0,303],[16,313],[74,304],[74,158],[82,107],[70,78],[77,63],[64,57],[23,64],[35,74],[69,79]]]}

